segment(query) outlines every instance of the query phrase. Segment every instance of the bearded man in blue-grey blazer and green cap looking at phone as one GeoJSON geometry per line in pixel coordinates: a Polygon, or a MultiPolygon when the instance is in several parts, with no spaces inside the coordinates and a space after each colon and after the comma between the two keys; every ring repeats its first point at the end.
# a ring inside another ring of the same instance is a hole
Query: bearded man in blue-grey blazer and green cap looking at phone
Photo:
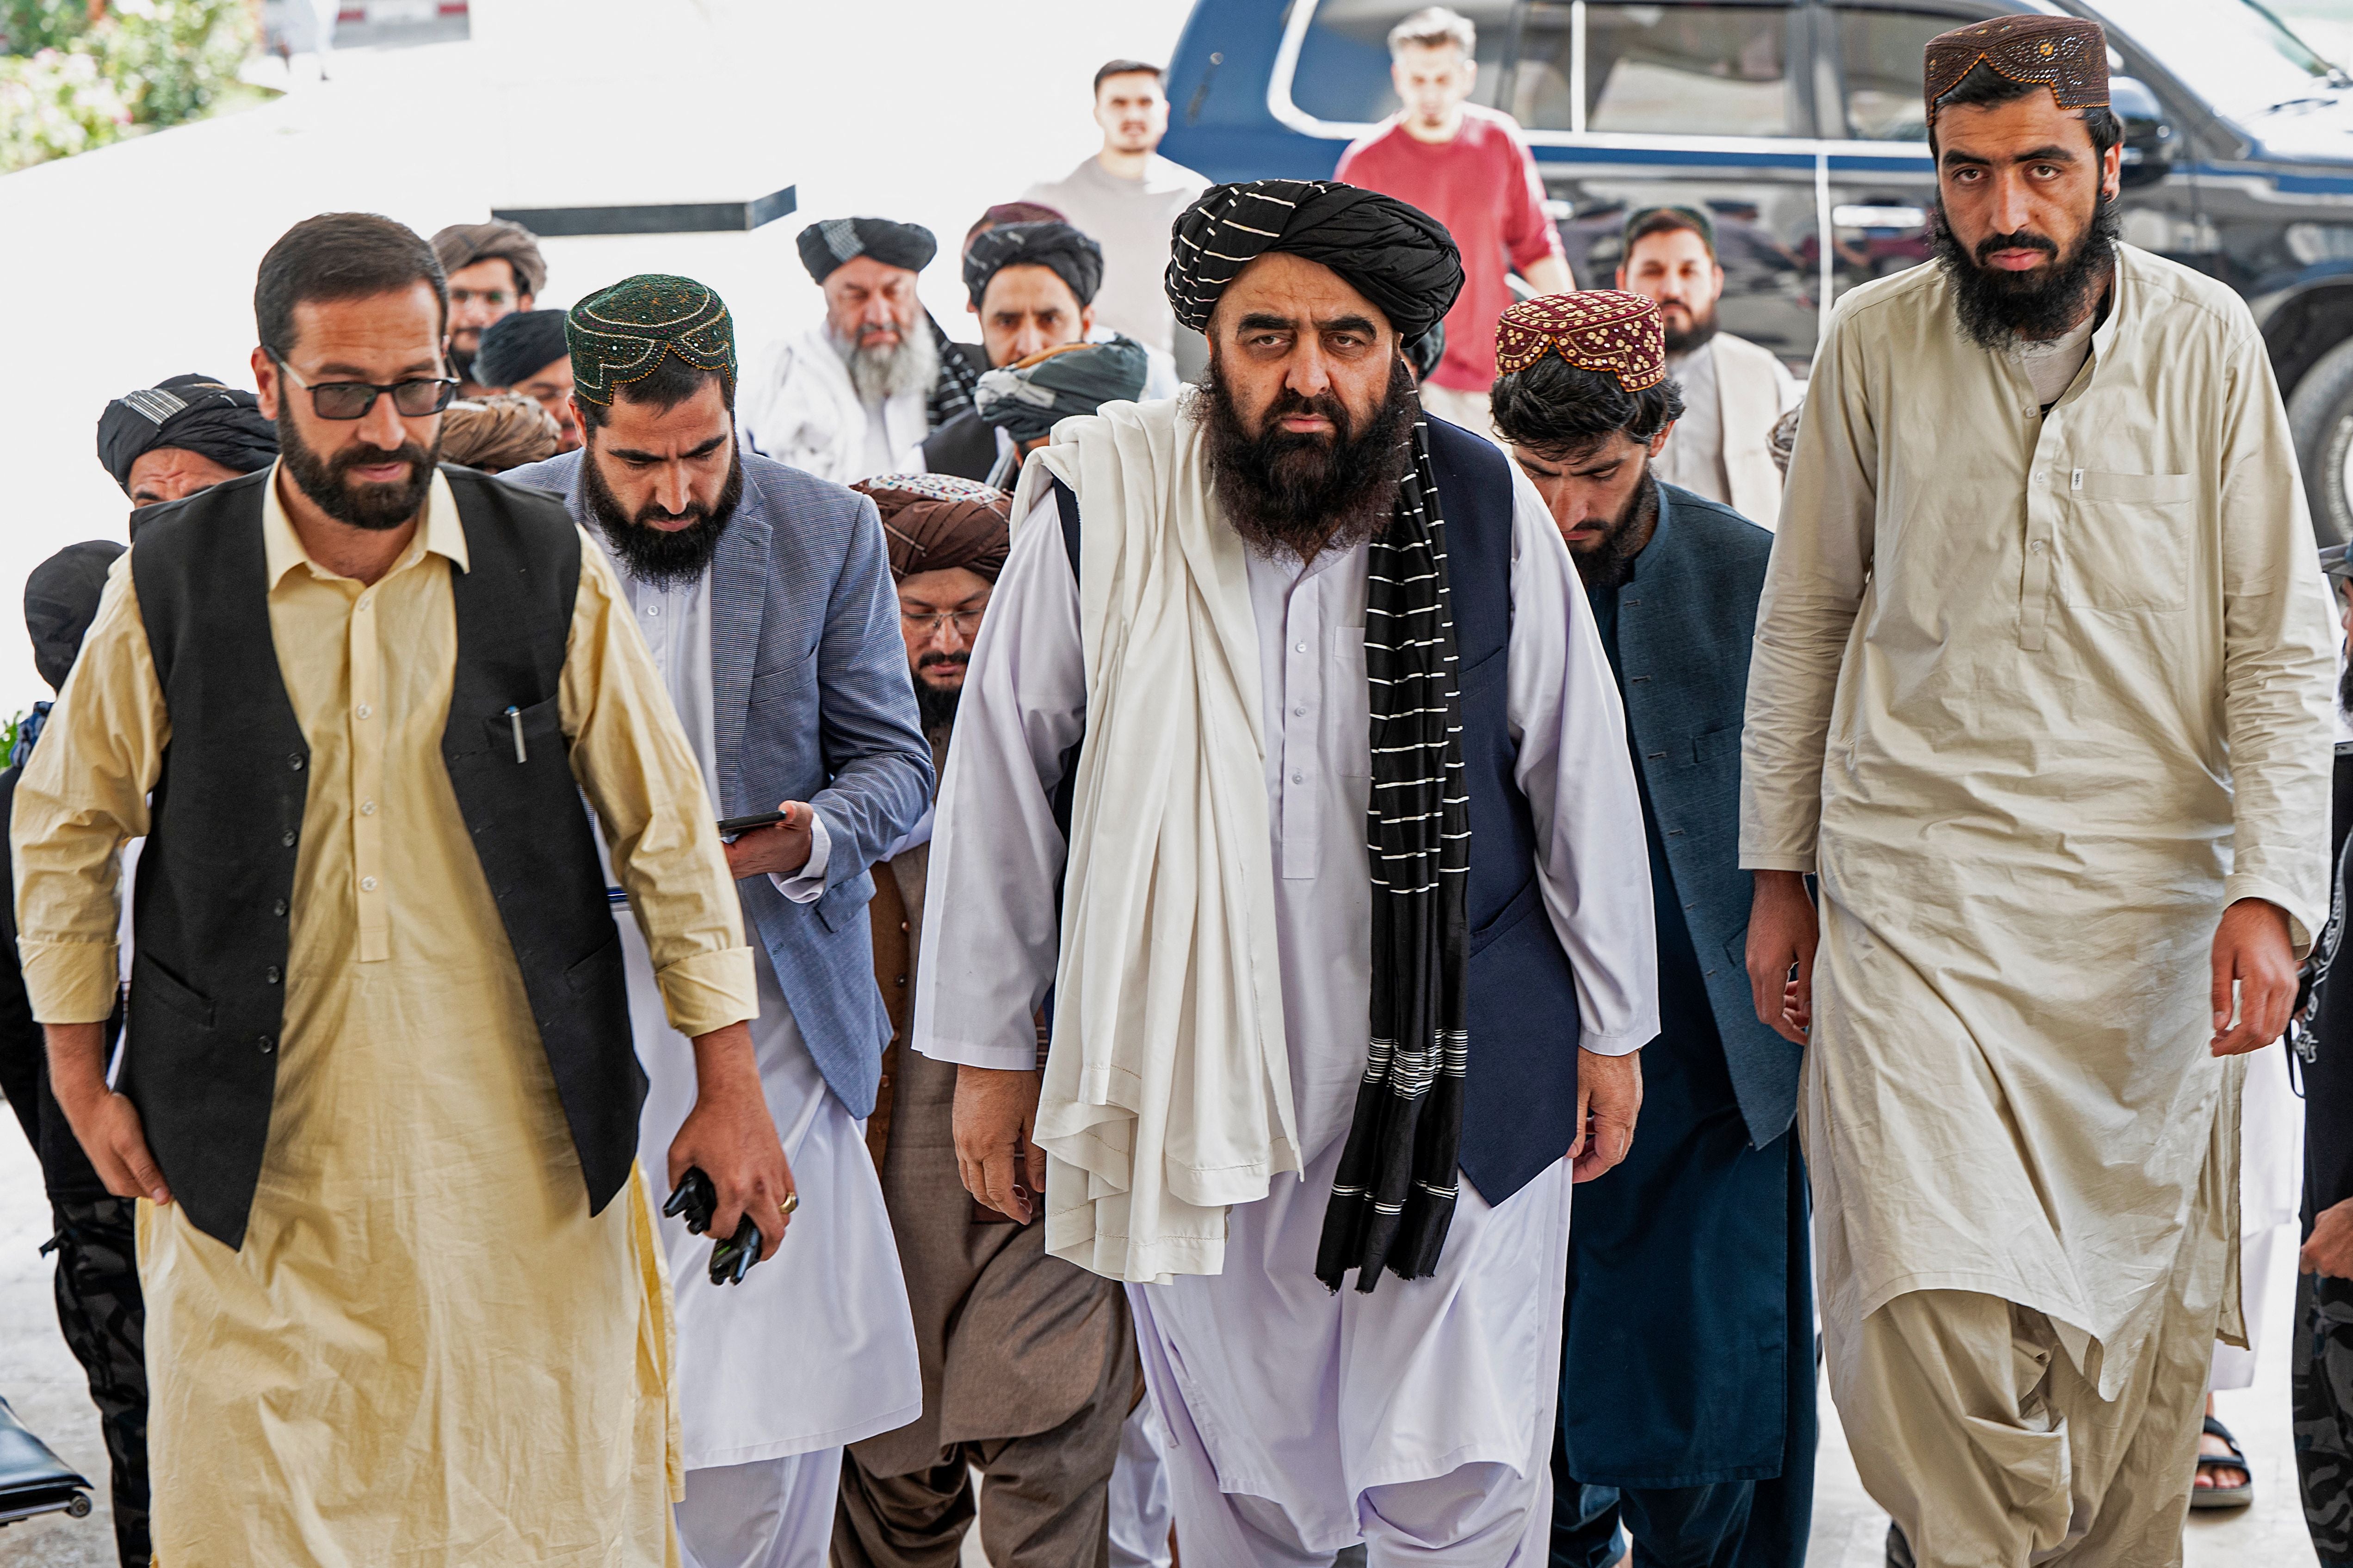
{"type": "MultiPolygon", "coordinates": [[[[704,820],[784,816],[734,835],[727,863],[758,933],[751,1037],[800,1201],[776,1262],[727,1288],[708,1276],[711,1237],[661,1222],[685,1425],[678,1537],[689,1568],[819,1563],[842,1443],[922,1408],[859,1121],[889,1039],[868,867],[922,816],[932,748],[915,729],[873,505],[736,449],[720,296],[689,277],[628,277],[574,306],[565,334],[586,444],[508,477],[562,491],[619,569],[701,766],[704,820]]],[[[694,1058],[664,1027],[647,954],[619,924],[652,1079],[638,1133],[652,1166],[694,1107],[694,1058]]]]}

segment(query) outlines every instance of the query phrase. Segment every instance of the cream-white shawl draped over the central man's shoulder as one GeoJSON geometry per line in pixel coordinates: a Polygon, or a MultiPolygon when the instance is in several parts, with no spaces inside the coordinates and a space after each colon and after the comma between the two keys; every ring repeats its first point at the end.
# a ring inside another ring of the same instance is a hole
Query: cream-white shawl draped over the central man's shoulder
{"type": "MultiPolygon", "coordinates": [[[[1217,1274],[1226,1206],[1299,1171],[1249,562],[1191,397],[1054,425],[1080,498],[1087,741],[1038,1103],[1047,1251],[1111,1279],[1217,1274]]],[[[1040,510],[1054,527],[1052,505],[1040,510]]]]}

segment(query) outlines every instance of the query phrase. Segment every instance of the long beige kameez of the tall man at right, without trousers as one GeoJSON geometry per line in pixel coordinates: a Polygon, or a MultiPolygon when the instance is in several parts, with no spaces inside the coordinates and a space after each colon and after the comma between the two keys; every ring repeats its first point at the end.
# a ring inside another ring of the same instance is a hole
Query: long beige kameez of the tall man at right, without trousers
{"type": "Polygon", "coordinates": [[[2120,247],[2047,414],[1939,268],[1840,306],[1741,797],[1744,865],[1821,875],[1800,1126],[1833,1385],[1913,1291],[2040,1314],[2104,1401],[2179,1319],[2184,1248],[2235,1227],[2195,1204],[2235,1150],[2214,924],[2238,898],[2299,950],[2322,924],[2332,677],[2287,416],[2228,289],[2120,247]]]}

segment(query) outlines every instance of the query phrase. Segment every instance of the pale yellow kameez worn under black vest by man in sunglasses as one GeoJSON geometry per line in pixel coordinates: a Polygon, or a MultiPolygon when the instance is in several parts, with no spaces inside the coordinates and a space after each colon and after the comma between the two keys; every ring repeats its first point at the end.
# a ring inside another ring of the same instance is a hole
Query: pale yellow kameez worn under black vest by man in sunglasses
{"type": "MultiPolygon", "coordinates": [[[[374,585],[264,508],[271,635],[311,745],[271,1138],[240,1251],[139,1204],[155,1559],[678,1563],[671,1305],[642,1171],[588,1194],[440,755],[466,534],[435,480],[374,585]]],[[[704,783],[605,555],[560,710],[671,1023],[748,1018],[704,783]]],[[[169,738],[125,562],[16,795],[35,1016],[113,1001],[113,858],[169,738]]],[[[129,1041],[136,1051],[139,1041],[129,1041]]]]}

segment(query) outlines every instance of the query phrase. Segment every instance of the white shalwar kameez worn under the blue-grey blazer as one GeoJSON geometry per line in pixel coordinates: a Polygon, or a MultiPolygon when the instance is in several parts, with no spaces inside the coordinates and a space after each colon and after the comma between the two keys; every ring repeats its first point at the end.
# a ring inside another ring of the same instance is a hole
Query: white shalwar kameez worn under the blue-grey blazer
{"type": "MultiPolygon", "coordinates": [[[[718,799],[711,576],[652,588],[619,559],[614,569],[704,766],[704,788],[718,799]]],[[[795,903],[814,900],[828,856],[819,818],[809,865],[776,879],[776,889],[795,903]]],[[[628,961],[638,1060],[649,1079],[638,1161],[659,1197],[668,1192],[671,1140],[694,1110],[694,1046],[661,1016],[645,940],[626,905],[614,907],[614,924],[628,961]]],[[[744,924],[751,929],[751,912],[744,924]]],[[[753,947],[760,980],[753,1053],[800,1208],[776,1255],[739,1286],[711,1284],[711,1237],[687,1232],[682,1220],[659,1220],[678,1300],[685,1568],[821,1568],[842,1446],[922,1413],[915,1324],[864,1124],[826,1086],[774,964],[753,947]]]]}

